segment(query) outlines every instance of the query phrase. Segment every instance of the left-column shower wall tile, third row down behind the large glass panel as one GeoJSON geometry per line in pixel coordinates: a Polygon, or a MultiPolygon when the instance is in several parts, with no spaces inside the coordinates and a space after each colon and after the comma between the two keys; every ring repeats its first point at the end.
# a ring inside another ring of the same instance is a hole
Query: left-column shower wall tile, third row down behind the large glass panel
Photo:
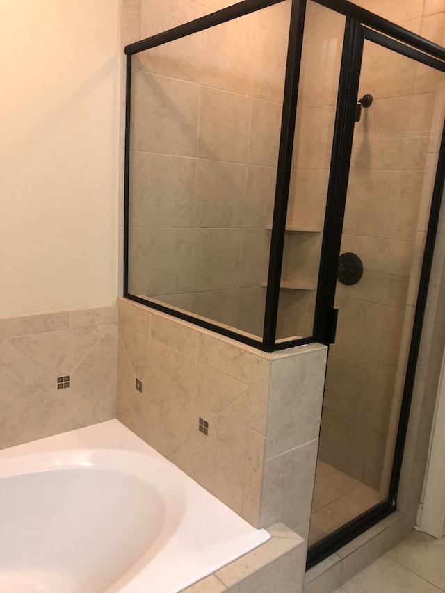
{"type": "Polygon", "coordinates": [[[191,227],[195,215],[196,160],[131,152],[131,227],[191,227]]]}

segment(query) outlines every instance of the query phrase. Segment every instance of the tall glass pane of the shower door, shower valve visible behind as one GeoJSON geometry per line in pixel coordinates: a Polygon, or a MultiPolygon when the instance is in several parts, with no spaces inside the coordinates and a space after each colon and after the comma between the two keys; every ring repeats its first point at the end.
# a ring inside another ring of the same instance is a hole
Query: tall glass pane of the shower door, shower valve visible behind
{"type": "Polygon", "coordinates": [[[388,497],[445,74],[365,40],[364,95],[372,102],[355,123],[310,543],[388,497]]]}

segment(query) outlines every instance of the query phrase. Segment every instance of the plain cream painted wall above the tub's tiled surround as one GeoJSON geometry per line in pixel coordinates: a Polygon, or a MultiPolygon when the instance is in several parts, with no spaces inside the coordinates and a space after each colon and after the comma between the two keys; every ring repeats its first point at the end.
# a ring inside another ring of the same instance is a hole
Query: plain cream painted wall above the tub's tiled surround
{"type": "Polygon", "coordinates": [[[115,301],[118,8],[0,1],[0,317],[115,301]]]}

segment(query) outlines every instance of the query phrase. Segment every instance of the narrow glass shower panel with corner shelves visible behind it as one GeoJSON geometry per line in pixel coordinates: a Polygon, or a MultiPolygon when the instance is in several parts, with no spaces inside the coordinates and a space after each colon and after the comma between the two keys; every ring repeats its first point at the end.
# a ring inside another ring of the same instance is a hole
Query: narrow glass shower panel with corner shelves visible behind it
{"type": "Polygon", "coordinates": [[[307,3],[277,341],[312,335],[345,22],[307,3]]]}

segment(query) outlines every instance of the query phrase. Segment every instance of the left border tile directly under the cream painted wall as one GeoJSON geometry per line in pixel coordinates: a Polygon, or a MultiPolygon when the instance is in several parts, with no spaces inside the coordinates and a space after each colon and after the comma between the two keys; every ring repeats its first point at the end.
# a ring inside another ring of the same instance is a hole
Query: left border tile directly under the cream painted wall
{"type": "Polygon", "coordinates": [[[0,338],[41,334],[67,330],[70,327],[70,312],[44,313],[0,319],[0,338]]]}

